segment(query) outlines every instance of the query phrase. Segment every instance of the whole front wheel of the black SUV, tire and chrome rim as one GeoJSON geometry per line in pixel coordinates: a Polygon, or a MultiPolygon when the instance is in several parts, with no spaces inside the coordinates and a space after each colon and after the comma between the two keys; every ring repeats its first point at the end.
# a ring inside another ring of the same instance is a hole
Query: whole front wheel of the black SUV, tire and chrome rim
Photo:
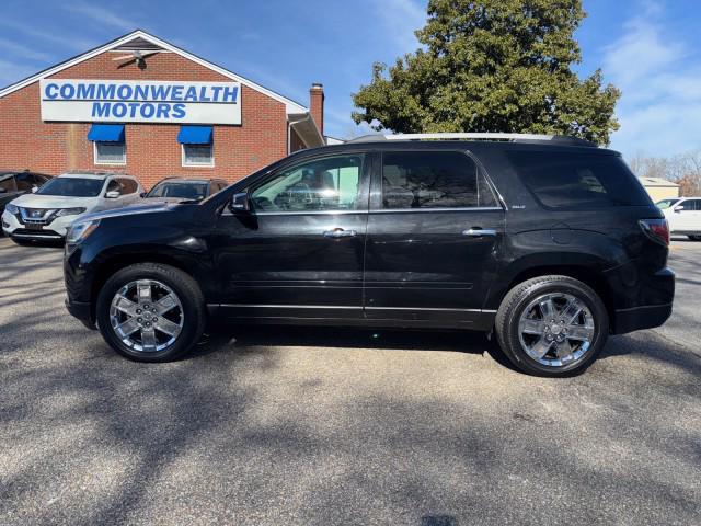
{"type": "Polygon", "coordinates": [[[102,287],[97,327],[117,353],[137,362],[170,362],[205,329],[197,283],[172,266],[141,263],[122,268],[102,287]]]}

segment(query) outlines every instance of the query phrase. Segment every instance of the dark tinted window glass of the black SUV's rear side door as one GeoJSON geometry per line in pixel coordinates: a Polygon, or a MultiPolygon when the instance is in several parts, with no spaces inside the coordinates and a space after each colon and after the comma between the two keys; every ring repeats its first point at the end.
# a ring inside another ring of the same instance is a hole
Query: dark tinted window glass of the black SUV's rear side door
{"type": "Polygon", "coordinates": [[[382,207],[463,208],[497,206],[476,164],[452,151],[387,152],[382,156],[382,207]]]}

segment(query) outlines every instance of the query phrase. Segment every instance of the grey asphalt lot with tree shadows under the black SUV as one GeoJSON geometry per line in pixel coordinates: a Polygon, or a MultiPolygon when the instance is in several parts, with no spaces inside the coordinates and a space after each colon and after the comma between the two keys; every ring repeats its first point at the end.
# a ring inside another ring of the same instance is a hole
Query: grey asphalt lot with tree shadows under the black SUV
{"type": "Polygon", "coordinates": [[[0,239],[0,524],[701,524],[701,243],[674,319],[583,376],[481,336],[237,330],[127,362],[0,239]]]}

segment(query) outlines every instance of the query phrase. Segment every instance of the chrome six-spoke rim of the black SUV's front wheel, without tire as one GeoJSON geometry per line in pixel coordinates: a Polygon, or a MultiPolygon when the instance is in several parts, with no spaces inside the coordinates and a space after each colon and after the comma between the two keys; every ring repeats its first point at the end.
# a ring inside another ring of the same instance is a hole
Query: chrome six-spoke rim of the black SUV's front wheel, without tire
{"type": "Polygon", "coordinates": [[[172,345],[183,330],[183,305],[161,282],[129,282],[110,305],[110,323],[117,338],[134,351],[154,353],[172,345]]]}

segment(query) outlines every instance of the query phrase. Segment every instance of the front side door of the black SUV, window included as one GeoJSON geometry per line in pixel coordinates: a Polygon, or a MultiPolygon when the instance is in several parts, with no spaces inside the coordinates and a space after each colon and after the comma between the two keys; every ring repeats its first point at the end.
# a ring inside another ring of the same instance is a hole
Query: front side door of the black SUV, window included
{"type": "Polygon", "coordinates": [[[323,157],[254,184],[250,215],[216,236],[222,307],[234,317],[361,318],[369,163],[323,157]]]}

